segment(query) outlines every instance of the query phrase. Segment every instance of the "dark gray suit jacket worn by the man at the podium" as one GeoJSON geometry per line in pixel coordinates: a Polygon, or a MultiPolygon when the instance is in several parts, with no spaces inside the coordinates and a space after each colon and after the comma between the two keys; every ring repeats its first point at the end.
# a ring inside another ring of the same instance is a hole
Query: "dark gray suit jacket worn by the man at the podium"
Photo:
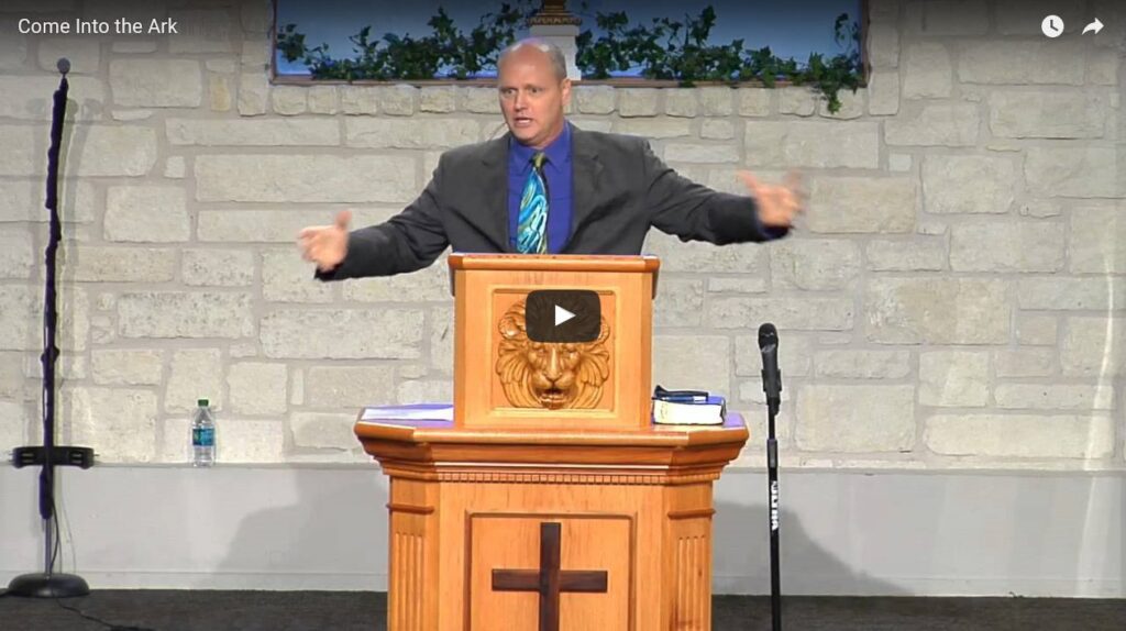
{"type": "MultiPolygon", "coordinates": [[[[387,222],[354,231],[348,255],[322,280],[390,276],[455,252],[511,252],[509,136],[454,148],[426,190],[387,222]]],[[[750,197],[714,191],[677,174],[644,138],[571,128],[572,217],[564,254],[638,254],[650,226],[717,245],[768,241],[785,228],[758,220],[750,197]]]]}

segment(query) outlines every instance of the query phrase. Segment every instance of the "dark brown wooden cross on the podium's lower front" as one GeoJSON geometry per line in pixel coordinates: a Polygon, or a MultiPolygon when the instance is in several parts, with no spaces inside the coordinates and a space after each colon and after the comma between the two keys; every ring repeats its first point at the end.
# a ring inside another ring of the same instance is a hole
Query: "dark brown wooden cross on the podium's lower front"
{"type": "Polygon", "coordinates": [[[539,524],[539,569],[494,569],[494,592],[539,592],[539,631],[558,631],[560,594],[606,593],[605,570],[560,569],[560,524],[539,524]]]}

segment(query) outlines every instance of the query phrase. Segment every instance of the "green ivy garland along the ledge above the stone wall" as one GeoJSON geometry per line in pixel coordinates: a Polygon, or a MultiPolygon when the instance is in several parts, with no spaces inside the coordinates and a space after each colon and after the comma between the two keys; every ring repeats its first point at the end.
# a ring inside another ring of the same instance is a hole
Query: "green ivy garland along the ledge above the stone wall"
{"type": "MultiPolygon", "coordinates": [[[[517,30],[537,8],[531,0],[502,4],[499,11],[482,16],[467,34],[445,9],[430,18],[427,25],[432,31],[423,37],[388,33],[372,39],[372,27],[365,26],[349,37],[355,55],[342,58],[331,56],[327,44],[310,48],[305,35],[289,24],[278,31],[277,47],[286,61],[301,60],[314,80],[462,80],[495,70],[500,51],[516,39],[517,30]]],[[[685,16],[685,21],[658,18],[651,26],[631,25],[624,11],[598,13],[596,24],[602,35],[596,39],[590,29],[580,33],[575,64],[583,78],[592,80],[640,67],[645,79],[676,81],[683,87],[748,81],[759,81],[767,88],[778,81],[811,85],[828,100],[830,112],[840,110],[840,90],[855,92],[860,85],[860,29],[847,13],[838,16],[833,24],[834,38],[843,52],[828,58],[813,53],[805,64],[783,60],[769,47],[744,49],[742,39],[711,44],[707,38],[715,20],[711,6],[699,16],[685,16]]]]}

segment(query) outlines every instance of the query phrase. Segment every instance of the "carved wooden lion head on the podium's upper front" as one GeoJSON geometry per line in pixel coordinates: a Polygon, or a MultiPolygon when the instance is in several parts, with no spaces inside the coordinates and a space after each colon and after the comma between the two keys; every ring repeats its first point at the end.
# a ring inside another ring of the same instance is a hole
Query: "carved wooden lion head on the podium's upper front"
{"type": "Polygon", "coordinates": [[[610,328],[602,319],[598,339],[586,343],[545,343],[528,339],[524,300],[498,324],[497,373],[516,407],[589,409],[602,398],[610,376],[610,328]]]}

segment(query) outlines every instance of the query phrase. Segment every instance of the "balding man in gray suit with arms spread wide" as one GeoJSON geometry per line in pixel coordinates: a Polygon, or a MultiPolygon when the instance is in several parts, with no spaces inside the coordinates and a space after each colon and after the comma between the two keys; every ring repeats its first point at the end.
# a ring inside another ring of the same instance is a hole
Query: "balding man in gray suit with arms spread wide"
{"type": "Polygon", "coordinates": [[[498,62],[509,133],[443,154],[418,199],[387,222],[349,232],[351,213],[305,228],[316,277],[390,276],[456,252],[638,254],[650,226],[717,245],[785,236],[801,211],[796,186],[752,197],[714,191],[665,166],[642,138],[584,132],[566,121],[571,80],[558,47],[525,39],[498,62]]]}

